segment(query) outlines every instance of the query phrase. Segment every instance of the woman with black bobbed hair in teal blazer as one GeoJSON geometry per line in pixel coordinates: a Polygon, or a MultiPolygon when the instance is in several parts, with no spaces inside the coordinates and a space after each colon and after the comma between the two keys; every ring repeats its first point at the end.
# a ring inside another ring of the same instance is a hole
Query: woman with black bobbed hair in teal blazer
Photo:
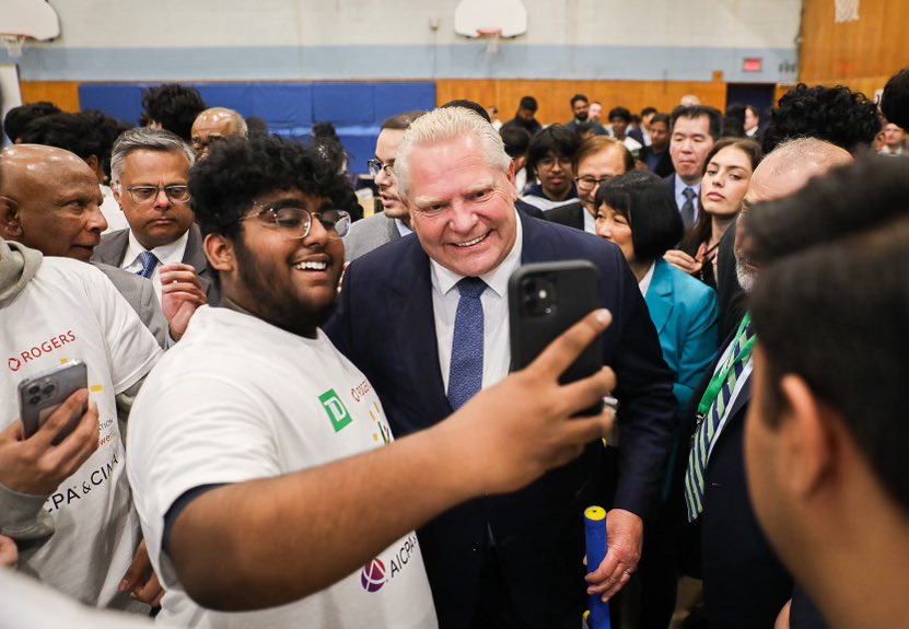
{"type": "MultiPolygon", "coordinates": [[[[663,254],[681,240],[683,224],[668,186],[656,175],[632,171],[607,179],[596,193],[596,233],[621,248],[631,267],[660,335],[663,359],[675,375],[676,418],[716,358],[720,345],[716,293],[675,268],[663,254]]],[[[675,604],[678,581],[677,540],[668,525],[665,500],[679,452],[688,435],[676,429],[663,489],[664,508],[644,527],[644,550],[634,590],[626,605],[637,607],[641,627],[666,627],[675,604]]]]}

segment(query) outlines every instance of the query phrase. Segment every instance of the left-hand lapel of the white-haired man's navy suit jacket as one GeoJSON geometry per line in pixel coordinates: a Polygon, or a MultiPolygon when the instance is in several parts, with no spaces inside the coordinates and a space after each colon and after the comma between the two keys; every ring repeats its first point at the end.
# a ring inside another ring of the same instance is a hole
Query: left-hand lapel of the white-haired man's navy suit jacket
{"type": "Polygon", "coordinates": [[[408,357],[404,361],[404,370],[410,380],[411,391],[429,410],[424,418],[426,427],[429,427],[451,415],[452,408],[439,368],[429,257],[416,236],[410,238],[399,268],[401,272],[393,279],[387,295],[388,312],[393,314],[393,338],[397,348],[412,348],[411,351],[401,351],[400,356],[408,357]]]}

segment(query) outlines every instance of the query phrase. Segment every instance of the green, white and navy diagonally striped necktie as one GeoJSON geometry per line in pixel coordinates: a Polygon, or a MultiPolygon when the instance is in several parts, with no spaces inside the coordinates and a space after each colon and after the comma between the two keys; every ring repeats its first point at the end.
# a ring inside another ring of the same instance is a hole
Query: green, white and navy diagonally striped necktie
{"type": "MultiPolygon", "coordinates": [[[[754,336],[751,324],[745,326],[738,338],[735,339],[735,345],[726,359],[727,366],[738,353],[745,343],[754,336]]],[[[695,440],[691,443],[691,451],[688,453],[688,467],[685,470],[685,504],[688,506],[688,522],[697,520],[703,511],[703,477],[707,469],[707,458],[710,454],[710,445],[716,436],[716,429],[720,427],[720,420],[726,412],[726,406],[732,398],[732,392],[735,391],[735,384],[745,371],[745,365],[748,361],[735,363],[735,366],[726,375],[723,383],[723,388],[716,399],[713,400],[710,409],[703,421],[698,426],[695,433],[695,440]]]]}

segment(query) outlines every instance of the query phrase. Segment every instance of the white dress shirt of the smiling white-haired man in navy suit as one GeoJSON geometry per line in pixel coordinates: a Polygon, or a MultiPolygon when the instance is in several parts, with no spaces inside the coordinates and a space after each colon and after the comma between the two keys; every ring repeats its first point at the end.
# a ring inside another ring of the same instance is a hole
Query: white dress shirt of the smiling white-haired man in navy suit
{"type": "MultiPolygon", "coordinates": [[[[480,276],[487,289],[480,296],[482,303],[483,361],[482,387],[491,386],[509,374],[511,365],[511,341],[509,339],[509,299],[508,287],[511,275],[521,266],[521,251],[524,234],[521,219],[517,222],[514,246],[498,267],[480,276]]],[[[442,370],[442,383],[448,391],[448,375],[452,365],[452,342],[454,341],[454,322],[461,293],[458,281],[464,279],[435,260],[430,260],[432,276],[432,315],[435,321],[435,336],[439,343],[439,366],[442,370]]]]}

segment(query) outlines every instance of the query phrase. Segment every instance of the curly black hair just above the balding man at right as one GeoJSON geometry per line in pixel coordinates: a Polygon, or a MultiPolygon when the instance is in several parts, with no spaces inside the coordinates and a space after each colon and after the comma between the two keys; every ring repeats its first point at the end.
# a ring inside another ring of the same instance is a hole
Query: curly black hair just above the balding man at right
{"type": "Polygon", "coordinates": [[[861,92],[799,83],[770,113],[762,148],[769,154],[785,140],[817,138],[852,153],[870,147],[879,131],[877,106],[861,92]]]}

